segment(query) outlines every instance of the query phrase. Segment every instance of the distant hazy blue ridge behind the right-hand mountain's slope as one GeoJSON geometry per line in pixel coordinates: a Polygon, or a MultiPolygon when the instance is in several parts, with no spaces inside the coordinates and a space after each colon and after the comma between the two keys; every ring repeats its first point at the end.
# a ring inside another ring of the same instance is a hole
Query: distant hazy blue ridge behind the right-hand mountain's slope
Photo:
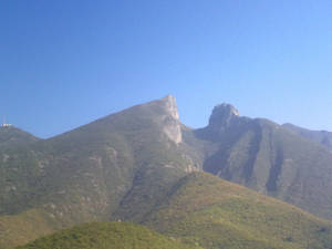
{"type": "Polygon", "coordinates": [[[298,135],[301,135],[310,141],[317,142],[321,145],[324,145],[329,148],[332,148],[332,133],[328,131],[311,131],[307,128],[302,128],[299,126],[295,126],[293,124],[287,123],[283,124],[282,127],[286,127],[298,135]]]}

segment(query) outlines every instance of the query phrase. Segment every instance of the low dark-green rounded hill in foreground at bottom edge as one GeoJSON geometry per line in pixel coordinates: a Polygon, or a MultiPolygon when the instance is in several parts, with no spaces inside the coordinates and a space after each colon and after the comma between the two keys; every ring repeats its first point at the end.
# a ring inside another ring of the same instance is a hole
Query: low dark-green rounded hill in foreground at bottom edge
{"type": "Polygon", "coordinates": [[[93,222],[40,238],[17,249],[198,249],[139,225],[93,222]]]}

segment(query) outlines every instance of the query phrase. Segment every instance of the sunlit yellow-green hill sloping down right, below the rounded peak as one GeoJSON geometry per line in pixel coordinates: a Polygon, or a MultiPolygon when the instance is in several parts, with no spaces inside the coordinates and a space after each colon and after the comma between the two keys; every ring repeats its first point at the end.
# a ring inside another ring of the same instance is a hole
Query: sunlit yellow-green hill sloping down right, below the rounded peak
{"type": "Polygon", "coordinates": [[[208,249],[330,249],[332,222],[206,173],[193,173],[143,222],[208,249]]]}

